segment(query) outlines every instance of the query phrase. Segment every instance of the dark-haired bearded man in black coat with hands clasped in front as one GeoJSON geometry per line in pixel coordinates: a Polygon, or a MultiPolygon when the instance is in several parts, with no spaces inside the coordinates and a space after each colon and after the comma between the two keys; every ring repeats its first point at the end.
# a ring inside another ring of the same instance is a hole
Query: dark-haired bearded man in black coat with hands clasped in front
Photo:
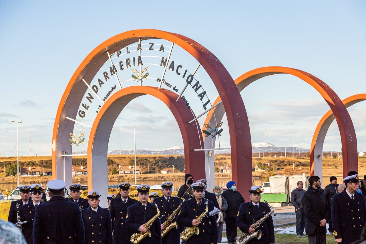
{"type": "Polygon", "coordinates": [[[320,189],[321,181],[316,175],[309,178],[309,189],[302,197],[302,204],[306,215],[305,229],[309,244],[325,244],[326,222],[329,219],[329,207],[320,189]]]}

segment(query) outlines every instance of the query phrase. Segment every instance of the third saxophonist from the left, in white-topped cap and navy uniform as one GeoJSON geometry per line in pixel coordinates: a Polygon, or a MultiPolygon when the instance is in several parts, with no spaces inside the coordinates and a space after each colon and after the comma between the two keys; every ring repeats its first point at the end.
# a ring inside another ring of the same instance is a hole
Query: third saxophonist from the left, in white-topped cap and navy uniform
{"type": "Polygon", "coordinates": [[[205,187],[206,185],[202,182],[192,184],[194,197],[183,202],[178,214],[177,222],[179,225],[187,228],[197,226],[199,229],[198,235],[193,234],[187,240],[188,244],[217,243],[216,217],[214,215],[209,216],[209,212],[213,210],[214,206],[213,202],[203,198],[205,187]],[[199,221],[197,218],[206,211],[206,202],[208,203],[208,213],[199,221]]]}

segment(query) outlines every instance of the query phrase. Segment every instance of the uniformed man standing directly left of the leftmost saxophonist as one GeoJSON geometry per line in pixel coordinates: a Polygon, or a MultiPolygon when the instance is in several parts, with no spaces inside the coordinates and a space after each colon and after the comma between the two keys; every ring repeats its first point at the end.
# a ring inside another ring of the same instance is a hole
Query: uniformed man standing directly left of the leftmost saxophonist
{"type": "Polygon", "coordinates": [[[111,218],[113,227],[113,243],[130,244],[130,232],[126,228],[127,208],[137,203],[137,200],[128,197],[130,194],[130,183],[119,184],[120,197],[111,200],[111,218]]]}

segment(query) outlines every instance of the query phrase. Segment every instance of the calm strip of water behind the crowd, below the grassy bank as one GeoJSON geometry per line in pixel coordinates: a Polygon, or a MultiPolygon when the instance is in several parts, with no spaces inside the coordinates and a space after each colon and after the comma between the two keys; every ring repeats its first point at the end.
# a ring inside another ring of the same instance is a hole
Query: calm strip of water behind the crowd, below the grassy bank
{"type": "MultiPolygon", "coordinates": [[[[338,184],[340,184],[340,182],[342,182],[342,177],[341,176],[337,176],[338,178],[338,184]]],[[[226,183],[228,181],[230,181],[231,179],[218,179],[218,180],[215,180],[215,184],[216,185],[219,185],[219,186],[225,186],[226,183]]],[[[160,185],[162,182],[164,181],[139,181],[137,180],[136,184],[148,184],[148,185],[160,185]]],[[[174,189],[175,191],[178,191],[179,187],[181,185],[183,185],[184,183],[184,180],[173,180],[173,186],[174,186],[174,189]]],[[[258,186],[261,186],[262,183],[264,182],[264,180],[262,178],[255,178],[254,181],[253,181],[253,185],[258,185],[258,186]]],[[[30,184],[33,184],[35,182],[29,182],[29,183],[21,183],[21,185],[30,185],[30,184]]],[[[41,182],[41,183],[44,183],[44,186],[47,187],[46,185],[46,182],[41,182]]],[[[81,185],[87,185],[87,182],[74,182],[74,183],[79,183],[81,185]]],[[[119,185],[120,181],[110,181],[108,182],[108,185],[119,185]]],[[[134,184],[133,181],[130,182],[132,185],[134,184]]],[[[329,185],[329,177],[323,177],[323,181],[322,181],[322,188],[324,188],[326,185],[329,185]]],[[[4,191],[4,190],[9,190],[9,191],[12,191],[16,188],[16,183],[0,183],[0,191],[4,191]]]]}

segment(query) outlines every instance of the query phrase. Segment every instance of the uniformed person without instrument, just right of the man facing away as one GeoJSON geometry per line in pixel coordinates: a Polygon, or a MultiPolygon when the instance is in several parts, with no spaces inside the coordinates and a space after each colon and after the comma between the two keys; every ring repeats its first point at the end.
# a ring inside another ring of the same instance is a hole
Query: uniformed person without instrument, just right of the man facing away
{"type": "Polygon", "coordinates": [[[89,191],[89,207],[81,211],[85,227],[85,243],[112,243],[112,222],[108,209],[99,207],[98,191],[89,191]]]}

